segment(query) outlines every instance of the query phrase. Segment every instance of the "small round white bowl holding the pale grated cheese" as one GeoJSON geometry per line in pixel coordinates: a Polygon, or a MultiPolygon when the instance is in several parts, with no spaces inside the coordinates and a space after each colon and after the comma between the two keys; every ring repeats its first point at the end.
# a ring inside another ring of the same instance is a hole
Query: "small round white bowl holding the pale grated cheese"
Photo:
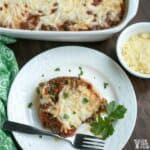
{"type": "Polygon", "coordinates": [[[130,72],[132,75],[140,78],[149,79],[150,74],[144,74],[137,71],[134,71],[131,69],[127,63],[125,62],[123,56],[122,56],[122,46],[123,44],[132,36],[140,33],[150,33],[150,23],[149,22],[140,22],[133,24],[129,27],[127,27],[119,36],[117,41],[117,57],[122,64],[122,66],[130,72]]]}

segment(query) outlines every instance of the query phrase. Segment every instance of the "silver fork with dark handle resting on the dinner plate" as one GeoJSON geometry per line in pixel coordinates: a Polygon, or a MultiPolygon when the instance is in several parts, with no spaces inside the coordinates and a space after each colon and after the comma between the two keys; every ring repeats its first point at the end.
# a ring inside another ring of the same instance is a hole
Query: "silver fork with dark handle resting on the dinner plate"
{"type": "Polygon", "coordinates": [[[25,124],[12,122],[12,121],[6,121],[3,125],[3,129],[8,131],[17,131],[17,132],[28,133],[28,134],[56,137],[70,143],[76,149],[85,149],[85,150],[104,149],[104,141],[101,140],[100,138],[91,135],[76,134],[73,138],[64,138],[46,130],[41,130],[32,126],[28,126],[25,124]]]}

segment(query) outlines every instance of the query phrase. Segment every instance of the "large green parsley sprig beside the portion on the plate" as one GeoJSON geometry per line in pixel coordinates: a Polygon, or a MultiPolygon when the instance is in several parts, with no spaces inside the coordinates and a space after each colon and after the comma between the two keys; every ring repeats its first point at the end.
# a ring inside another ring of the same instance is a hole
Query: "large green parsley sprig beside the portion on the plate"
{"type": "Polygon", "coordinates": [[[114,132],[113,123],[118,119],[122,119],[127,109],[123,105],[118,105],[115,101],[107,104],[107,116],[98,116],[96,120],[91,123],[91,132],[100,136],[103,139],[108,138],[114,132]]]}

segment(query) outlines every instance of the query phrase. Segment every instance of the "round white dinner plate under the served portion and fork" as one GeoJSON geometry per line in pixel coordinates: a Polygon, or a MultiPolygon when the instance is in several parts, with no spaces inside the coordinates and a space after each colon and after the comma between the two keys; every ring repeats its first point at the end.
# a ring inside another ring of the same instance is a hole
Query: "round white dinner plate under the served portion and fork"
{"type": "MultiPolygon", "coordinates": [[[[129,140],[135,126],[137,103],[134,89],[124,71],[112,59],[95,50],[66,46],[58,47],[34,57],[18,73],[9,93],[8,118],[42,128],[35,105],[36,87],[41,81],[58,76],[78,76],[79,66],[83,68],[82,78],[93,84],[108,101],[116,100],[127,108],[124,119],[115,124],[115,132],[105,141],[105,150],[121,150],[129,140]],[[59,67],[60,71],[54,71],[59,67]],[[71,72],[69,71],[71,70],[71,72]],[[104,89],[104,82],[109,86],[104,89]],[[33,107],[28,108],[33,101],[33,107]]],[[[87,125],[77,132],[89,133],[87,125]]],[[[24,150],[73,150],[68,143],[52,137],[13,132],[24,150]]]]}

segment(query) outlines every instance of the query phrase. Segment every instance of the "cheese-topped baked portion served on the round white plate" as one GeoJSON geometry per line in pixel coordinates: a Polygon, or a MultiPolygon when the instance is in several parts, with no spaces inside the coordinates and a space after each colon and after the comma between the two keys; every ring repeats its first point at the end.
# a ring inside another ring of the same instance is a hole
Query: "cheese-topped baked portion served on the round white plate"
{"type": "Polygon", "coordinates": [[[64,137],[104,112],[107,104],[90,83],[78,77],[58,77],[40,83],[38,95],[43,126],[64,137]]]}

